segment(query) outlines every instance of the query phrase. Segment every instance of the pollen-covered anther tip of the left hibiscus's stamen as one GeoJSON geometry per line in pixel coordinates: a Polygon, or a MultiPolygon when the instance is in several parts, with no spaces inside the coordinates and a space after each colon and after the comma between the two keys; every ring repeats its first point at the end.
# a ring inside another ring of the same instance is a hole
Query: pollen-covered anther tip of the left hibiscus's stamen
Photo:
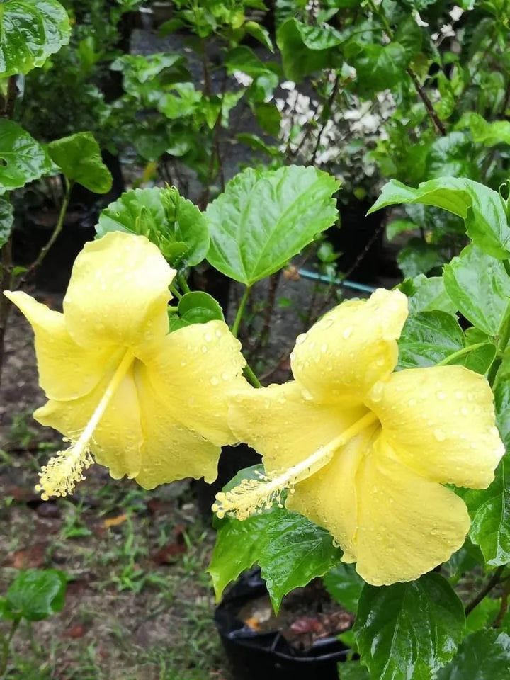
{"type": "Polygon", "coordinates": [[[72,443],[67,450],[59,451],[50,459],[39,473],[40,483],[35,491],[41,494],[43,501],[50,496],[67,496],[72,494],[77,482],[85,479],[83,471],[94,465],[89,446],[80,440],[72,443]]]}

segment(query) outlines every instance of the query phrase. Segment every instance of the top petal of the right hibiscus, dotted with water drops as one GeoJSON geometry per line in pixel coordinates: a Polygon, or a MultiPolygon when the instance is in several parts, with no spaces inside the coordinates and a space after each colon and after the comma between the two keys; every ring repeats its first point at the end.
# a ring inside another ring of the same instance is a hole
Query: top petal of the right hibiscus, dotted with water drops
{"type": "Polygon", "coordinates": [[[342,302],[297,338],[291,355],[295,380],[322,402],[363,402],[397,365],[406,318],[407,297],[399,290],[342,302]]]}

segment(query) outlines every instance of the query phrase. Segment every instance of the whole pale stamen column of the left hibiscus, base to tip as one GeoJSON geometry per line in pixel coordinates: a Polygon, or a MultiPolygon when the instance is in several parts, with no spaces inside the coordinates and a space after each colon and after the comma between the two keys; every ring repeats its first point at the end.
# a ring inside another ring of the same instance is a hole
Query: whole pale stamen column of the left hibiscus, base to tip
{"type": "Polygon", "coordinates": [[[94,464],[90,450],[94,430],[133,361],[135,361],[133,353],[130,350],[126,351],[79,438],[76,441],[66,440],[71,442],[71,446],[64,451],[59,451],[47,465],[42,467],[39,473],[40,483],[35,490],[41,494],[43,501],[47,501],[50,496],[67,496],[72,493],[77,482],[85,479],[83,471],[94,464]]]}

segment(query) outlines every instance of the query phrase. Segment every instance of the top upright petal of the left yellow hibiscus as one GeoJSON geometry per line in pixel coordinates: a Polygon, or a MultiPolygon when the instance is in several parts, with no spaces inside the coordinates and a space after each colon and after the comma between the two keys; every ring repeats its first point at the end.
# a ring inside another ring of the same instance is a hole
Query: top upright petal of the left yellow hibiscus
{"type": "Polygon", "coordinates": [[[168,332],[166,305],[175,276],[143,236],[111,232],[85,244],[64,297],[64,318],[83,346],[132,347],[168,332]]]}

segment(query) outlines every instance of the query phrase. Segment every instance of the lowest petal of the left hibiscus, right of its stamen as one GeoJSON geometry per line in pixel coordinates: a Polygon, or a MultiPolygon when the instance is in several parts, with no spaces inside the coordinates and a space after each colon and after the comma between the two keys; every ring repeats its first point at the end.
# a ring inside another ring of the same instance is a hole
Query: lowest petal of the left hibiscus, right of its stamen
{"type": "Polygon", "coordinates": [[[141,363],[137,364],[137,385],[144,433],[138,484],[154,489],[183,477],[204,477],[206,482],[214,482],[221,448],[176,419],[141,363]]]}

